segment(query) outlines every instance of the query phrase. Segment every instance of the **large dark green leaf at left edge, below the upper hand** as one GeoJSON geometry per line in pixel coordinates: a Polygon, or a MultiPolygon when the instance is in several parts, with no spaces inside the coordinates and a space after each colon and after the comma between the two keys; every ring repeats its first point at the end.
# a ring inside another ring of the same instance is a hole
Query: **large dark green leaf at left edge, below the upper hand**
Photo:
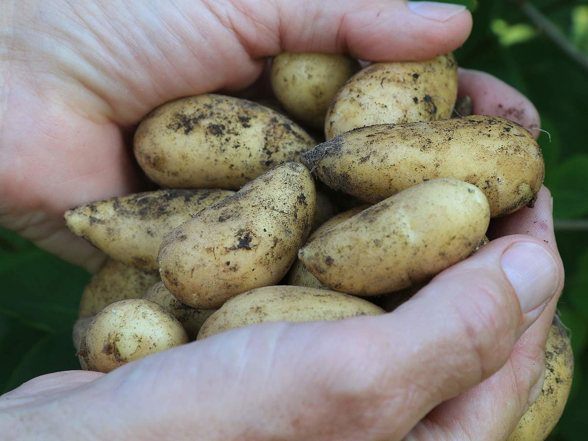
{"type": "MultiPolygon", "coordinates": [[[[14,240],[15,233],[3,232],[14,240]]],[[[18,242],[18,239],[16,239],[18,242]]],[[[90,275],[36,247],[0,249],[0,313],[47,332],[71,329],[90,275]]]]}

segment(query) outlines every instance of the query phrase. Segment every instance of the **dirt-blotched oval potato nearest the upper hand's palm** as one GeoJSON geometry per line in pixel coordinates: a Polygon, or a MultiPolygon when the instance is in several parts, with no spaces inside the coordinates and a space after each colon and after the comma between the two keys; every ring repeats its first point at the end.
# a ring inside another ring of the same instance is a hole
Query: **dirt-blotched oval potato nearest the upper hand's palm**
{"type": "Polygon", "coordinates": [[[165,103],[135,132],[147,176],[172,188],[239,189],[315,145],[286,116],[246,99],[207,93],[165,103]]]}

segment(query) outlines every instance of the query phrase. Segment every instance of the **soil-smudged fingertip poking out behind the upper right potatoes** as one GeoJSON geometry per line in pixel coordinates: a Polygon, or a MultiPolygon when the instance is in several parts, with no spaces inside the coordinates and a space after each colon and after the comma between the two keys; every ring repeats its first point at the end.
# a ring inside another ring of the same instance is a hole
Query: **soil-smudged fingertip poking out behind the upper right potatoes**
{"type": "Polygon", "coordinates": [[[458,96],[469,95],[475,115],[493,115],[510,119],[539,136],[539,112],[522,93],[486,72],[459,69],[458,96]]]}

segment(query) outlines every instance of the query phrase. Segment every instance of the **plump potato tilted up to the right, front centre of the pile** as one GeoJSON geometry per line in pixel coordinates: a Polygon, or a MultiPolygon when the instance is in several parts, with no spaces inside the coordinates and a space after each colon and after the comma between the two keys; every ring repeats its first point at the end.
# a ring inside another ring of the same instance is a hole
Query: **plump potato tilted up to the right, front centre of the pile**
{"type": "Polygon", "coordinates": [[[203,309],[275,285],[308,236],[315,204],[305,166],[275,166],[165,236],[161,279],[183,303],[203,309]]]}

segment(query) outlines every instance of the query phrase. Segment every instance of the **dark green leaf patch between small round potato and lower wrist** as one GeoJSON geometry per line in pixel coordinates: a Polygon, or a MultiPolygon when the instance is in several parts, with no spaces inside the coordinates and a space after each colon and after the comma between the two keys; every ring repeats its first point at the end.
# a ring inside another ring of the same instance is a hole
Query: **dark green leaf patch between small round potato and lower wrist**
{"type": "Polygon", "coordinates": [[[72,330],[46,335],[40,339],[18,363],[6,383],[12,390],[28,380],[51,372],[81,369],[72,343],[72,330]]]}

